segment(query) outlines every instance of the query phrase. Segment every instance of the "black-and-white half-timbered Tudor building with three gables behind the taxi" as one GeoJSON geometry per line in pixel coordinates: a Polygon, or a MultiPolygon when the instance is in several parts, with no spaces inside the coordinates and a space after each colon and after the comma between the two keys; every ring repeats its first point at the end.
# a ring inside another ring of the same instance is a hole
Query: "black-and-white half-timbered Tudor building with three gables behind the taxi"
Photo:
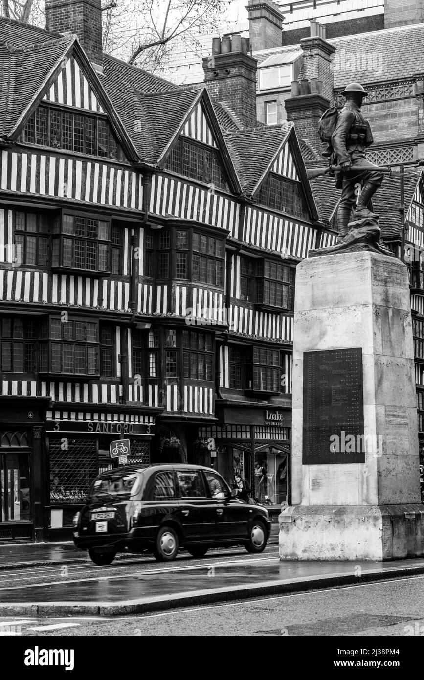
{"type": "Polygon", "coordinates": [[[239,468],[281,503],[296,263],[335,238],[294,127],[247,190],[243,131],[205,88],[140,93],[138,69],[9,20],[0,48],[0,538],[69,534],[124,437],[128,462],[239,468]],[[166,101],[179,118],[149,139],[166,101]]]}

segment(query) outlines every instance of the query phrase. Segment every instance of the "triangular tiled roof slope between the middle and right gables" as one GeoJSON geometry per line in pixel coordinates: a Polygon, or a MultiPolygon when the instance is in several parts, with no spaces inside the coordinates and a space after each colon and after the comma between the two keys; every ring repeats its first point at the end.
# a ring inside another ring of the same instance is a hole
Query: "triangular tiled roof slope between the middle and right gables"
{"type": "Polygon", "coordinates": [[[290,126],[267,125],[262,128],[224,133],[241,186],[246,194],[251,194],[255,189],[289,129],[291,129],[290,126]]]}

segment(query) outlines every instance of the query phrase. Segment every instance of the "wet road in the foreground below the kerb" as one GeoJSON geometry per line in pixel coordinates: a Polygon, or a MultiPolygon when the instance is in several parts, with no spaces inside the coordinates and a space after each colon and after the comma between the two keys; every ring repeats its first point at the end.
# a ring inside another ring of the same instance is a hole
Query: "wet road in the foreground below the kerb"
{"type": "MultiPolygon", "coordinates": [[[[0,636],[423,636],[424,577],[105,619],[2,617],[0,636]],[[3,633],[1,632],[3,631],[3,633]]],[[[361,643],[366,647],[366,641],[361,643]]],[[[372,646],[372,645],[370,645],[372,646]]],[[[374,645],[375,646],[375,645],[374,645]]],[[[396,643],[385,643],[395,649],[396,643]]],[[[396,656],[391,657],[396,659],[396,656]]]]}

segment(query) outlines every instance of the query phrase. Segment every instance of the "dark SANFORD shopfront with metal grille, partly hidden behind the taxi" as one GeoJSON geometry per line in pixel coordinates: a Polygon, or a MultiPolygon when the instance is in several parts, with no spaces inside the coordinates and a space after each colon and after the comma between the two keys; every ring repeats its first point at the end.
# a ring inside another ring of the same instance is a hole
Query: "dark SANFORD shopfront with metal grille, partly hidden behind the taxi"
{"type": "Polygon", "coordinates": [[[46,457],[49,479],[49,540],[70,535],[75,512],[99,474],[118,464],[146,464],[154,435],[152,415],[116,413],[48,414],[46,457]],[[109,444],[129,439],[127,460],[111,458],[109,444]]]}

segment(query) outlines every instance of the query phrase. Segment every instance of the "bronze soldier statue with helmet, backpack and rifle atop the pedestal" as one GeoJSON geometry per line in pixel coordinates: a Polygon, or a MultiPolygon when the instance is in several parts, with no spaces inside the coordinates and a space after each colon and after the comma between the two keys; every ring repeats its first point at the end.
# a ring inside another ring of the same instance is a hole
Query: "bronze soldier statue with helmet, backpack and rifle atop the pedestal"
{"type": "Polygon", "coordinates": [[[340,111],[336,129],[332,134],[332,149],[336,156],[334,160],[337,161],[334,165],[341,168],[341,172],[336,173],[336,187],[342,189],[342,198],[337,210],[339,241],[344,239],[349,231],[347,225],[351,221],[351,211],[356,203],[355,188],[362,181],[364,185],[353,220],[378,219],[378,215],[367,208],[368,201],[383,182],[383,173],[379,171],[377,165],[366,158],[366,148],[374,141],[370,124],[361,114],[362,101],[367,95],[368,92],[359,83],[350,83],[345,87],[343,97],[346,103],[340,111]],[[355,166],[360,166],[361,170],[355,171],[355,166]]]}

